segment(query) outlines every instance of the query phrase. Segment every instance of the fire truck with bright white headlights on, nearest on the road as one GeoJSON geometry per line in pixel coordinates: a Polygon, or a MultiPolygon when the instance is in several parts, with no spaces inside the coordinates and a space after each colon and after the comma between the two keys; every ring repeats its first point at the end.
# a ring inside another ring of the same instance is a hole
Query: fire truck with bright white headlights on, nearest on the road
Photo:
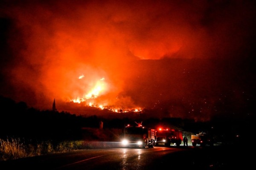
{"type": "Polygon", "coordinates": [[[153,148],[156,142],[155,135],[156,131],[143,127],[142,122],[137,123],[137,126],[127,125],[124,129],[122,147],[153,148]]]}

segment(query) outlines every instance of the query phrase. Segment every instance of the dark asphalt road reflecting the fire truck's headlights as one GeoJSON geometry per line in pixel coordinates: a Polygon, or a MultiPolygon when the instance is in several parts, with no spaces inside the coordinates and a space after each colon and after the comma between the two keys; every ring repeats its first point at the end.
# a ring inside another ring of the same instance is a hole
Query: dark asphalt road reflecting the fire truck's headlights
{"type": "Polygon", "coordinates": [[[227,170],[253,166],[242,146],[105,148],[2,161],[0,170],[227,170]]]}

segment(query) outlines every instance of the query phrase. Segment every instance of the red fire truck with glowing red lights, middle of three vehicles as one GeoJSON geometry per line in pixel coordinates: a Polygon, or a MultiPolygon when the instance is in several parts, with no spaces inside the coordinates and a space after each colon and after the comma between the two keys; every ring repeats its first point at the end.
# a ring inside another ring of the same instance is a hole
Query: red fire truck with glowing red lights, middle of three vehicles
{"type": "Polygon", "coordinates": [[[182,131],[169,128],[157,128],[157,141],[156,146],[170,146],[171,144],[180,146],[183,140],[182,131]]]}

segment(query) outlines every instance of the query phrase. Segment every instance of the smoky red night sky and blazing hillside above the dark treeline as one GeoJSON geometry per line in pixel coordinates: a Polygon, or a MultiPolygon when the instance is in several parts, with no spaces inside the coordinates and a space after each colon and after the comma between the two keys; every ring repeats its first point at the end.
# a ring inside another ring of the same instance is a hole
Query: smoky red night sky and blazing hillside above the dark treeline
{"type": "Polygon", "coordinates": [[[255,113],[252,0],[1,0],[0,95],[83,114],[255,113]],[[80,103],[73,103],[73,102],[80,103]],[[91,103],[90,103],[91,102],[91,103]]]}

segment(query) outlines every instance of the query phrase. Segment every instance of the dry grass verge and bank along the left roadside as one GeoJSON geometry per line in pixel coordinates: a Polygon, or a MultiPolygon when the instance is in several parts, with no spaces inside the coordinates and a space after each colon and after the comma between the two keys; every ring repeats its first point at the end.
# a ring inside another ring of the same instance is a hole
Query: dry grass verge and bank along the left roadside
{"type": "Polygon", "coordinates": [[[64,153],[73,150],[119,147],[120,130],[86,128],[84,140],[32,142],[20,138],[0,139],[0,161],[40,156],[51,153],[64,153]]]}

